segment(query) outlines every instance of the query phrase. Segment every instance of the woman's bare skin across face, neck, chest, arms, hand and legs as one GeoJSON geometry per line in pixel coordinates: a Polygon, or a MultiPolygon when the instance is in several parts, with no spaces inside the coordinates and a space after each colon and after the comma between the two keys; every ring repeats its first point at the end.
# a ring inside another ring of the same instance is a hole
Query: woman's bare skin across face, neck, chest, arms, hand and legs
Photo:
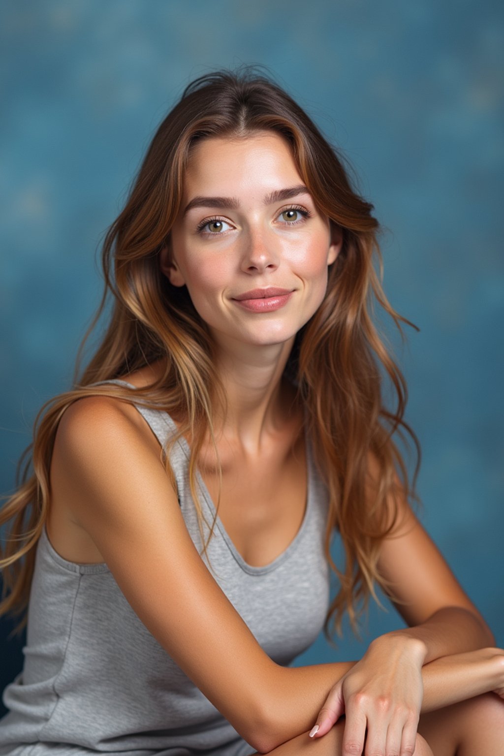
{"type": "MultiPolygon", "coordinates": [[[[302,184],[277,134],[200,141],[160,256],[162,272],[173,285],[187,286],[215,339],[227,396],[226,417],[215,417],[224,473],[219,514],[255,565],[286,549],[304,513],[302,407],[292,404],[280,378],[295,333],[322,302],[328,266],[342,246],[341,231],[317,212],[302,184]],[[295,195],[272,196],[287,189],[295,195]],[[237,301],[267,287],[289,291],[289,299],[270,311],[237,301]]],[[[140,386],[158,367],[122,377],[140,386]]],[[[215,496],[209,442],[202,460],[215,496]]],[[[373,473],[372,458],[369,467],[373,473]]],[[[504,688],[502,652],[489,649],[489,628],[405,500],[394,538],[382,545],[379,569],[394,585],[397,610],[410,627],[374,640],[357,663],[283,668],[258,646],[200,559],[166,485],[157,442],[134,407],[105,397],[72,404],[57,431],[51,486],[54,547],[65,541],[81,558],[88,553],[91,561],[107,562],[153,636],[258,751],[410,756],[416,745],[416,754],[428,754],[416,739],[423,711],[419,730],[436,756],[504,752],[504,705],[495,693],[481,695],[504,688]],[[65,539],[70,534],[73,541],[65,539]],[[171,606],[184,612],[175,616],[171,606]],[[472,702],[459,704],[468,698],[472,702]],[[444,706],[450,708],[435,711],[444,706]],[[470,750],[471,733],[490,738],[486,751],[470,750]]]]}

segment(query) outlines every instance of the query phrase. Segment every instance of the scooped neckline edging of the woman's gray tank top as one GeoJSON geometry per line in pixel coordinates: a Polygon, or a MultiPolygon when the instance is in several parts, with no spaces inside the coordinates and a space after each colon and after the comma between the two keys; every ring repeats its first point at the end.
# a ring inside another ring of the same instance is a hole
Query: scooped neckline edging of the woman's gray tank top
{"type": "MultiPolygon", "coordinates": [[[[100,383],[124,383],[126,386],[131,386],[132,389],[136,390],[138,388],[133,383],[129,383],[128,381],[122,380],[121,378],[114,378],[108,381],[100,381],[100,383]]],[[[175,423],[175,420],[173,420],[172,416],[167,411],[165,410],[154,410],[154,411],[159,412],[162,415],[162,417],[165,417],[166,423],[172,431],[178,432],[178,426],[175,423]]],[[[229,548],[230,553],[233,555],[237,564],[240,565],[241,569],[243,569],[244,572],[248,572],[249,575],[264,575],[266,572],[271,572],[274,569],[277,569],[277,567],[279,567],[283,562],[285,562],[285,560],[288,559],[288,557],[298,547],[298,544],[301,541],[301,538],[303,537],[303,534],[305,533],[308,527],[308,519],[311,514],[311,510],[313,506],[313,460],[312,460],[311,442],[308,435],[308,426],[306,422],[304,424],[304,435],[305,435],[305,466],[306,466],[305,513],[303,515],[303,519],[301,520],[301,525],[299,526],[298,531],[295,534],[294,538],[292,538],[292,541],[290,542],[290,544],[286,547],[286,549],[283,550],[282,553],[276,556],[272,562],[268,562],[267,565],[260,565],[260,566],[251,565],[249,564],[249,562],[246,562],[246,560],[243,559],[243,556],[237,550],[237,547],[234,545],[232,539],[230,538],[230,535],[227,533],[226,528],[224,528],[224,523],[222,522],[221,517],[218,514],[217,516],[215,516],[216,514],[215,504],[213,503],[210,492],[208,488],[206,487],[206,483],[203,480],[203,477],[201,476],[199,469],[196,469],[196,482],[199,486],[199,490],[203,494],[203,500],[206,503],[206,507],[212,516],[212,522],[215,518],[215,525],[218,527],[219,531],[221,532],[222,538],[224,538],[224,541],[227,544],[227,547],[229,548]]],[[[185,438],[184,435],[181,435],[177,439],[177,443],[181,447],[182,451],[184,451],[185,457],[189,459],[190,446],[187,442],[187,438],[185,438]]]]}

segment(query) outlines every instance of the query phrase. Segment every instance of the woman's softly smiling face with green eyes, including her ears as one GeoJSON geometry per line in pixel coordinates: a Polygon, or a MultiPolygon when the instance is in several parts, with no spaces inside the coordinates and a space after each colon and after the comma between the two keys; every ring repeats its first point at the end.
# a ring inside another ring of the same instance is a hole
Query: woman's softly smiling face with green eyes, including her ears
{"type": "Polygon", "coordinates": [[[210,137],[190,155],[161,268],[218,342],[279,344],[319,307],[341,245],[280,135],[210,137]]]}

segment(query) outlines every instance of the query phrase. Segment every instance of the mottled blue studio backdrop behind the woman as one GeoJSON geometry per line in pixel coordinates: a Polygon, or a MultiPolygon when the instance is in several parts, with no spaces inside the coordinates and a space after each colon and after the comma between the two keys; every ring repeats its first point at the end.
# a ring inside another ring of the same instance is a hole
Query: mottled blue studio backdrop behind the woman
{"type": "MultiPolygon", "coordinates": [[[[384,287],[423,462],[422,522],[504,645],[504,259],[500,2],[3,2],[0,490],[48,398],[70,386],[104,231],[187,83],[265,64],[345,151],[385,227],[384,287]],[[499,386],[501,387],[499,389],[499,386]]],[[[357,658],[321,636],[298,664],[357,658]]],[[[5,640],[2,679],[21,665],[5,640]],[[7,660],[7,661],[6,661],[7,660]]]]}

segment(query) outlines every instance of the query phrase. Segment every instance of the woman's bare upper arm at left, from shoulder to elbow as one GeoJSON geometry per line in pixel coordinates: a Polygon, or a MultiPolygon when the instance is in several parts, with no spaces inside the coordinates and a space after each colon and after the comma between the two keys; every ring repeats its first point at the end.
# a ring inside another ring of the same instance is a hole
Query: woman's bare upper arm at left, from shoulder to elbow
{"type": "Polygon", "coordinates": [[[278,667],[199,556],[159,451],[135,407],[85,397],[61,417],[51,487],[153,637],[260,749],[271,700],[264,683],[278,667]]]}

